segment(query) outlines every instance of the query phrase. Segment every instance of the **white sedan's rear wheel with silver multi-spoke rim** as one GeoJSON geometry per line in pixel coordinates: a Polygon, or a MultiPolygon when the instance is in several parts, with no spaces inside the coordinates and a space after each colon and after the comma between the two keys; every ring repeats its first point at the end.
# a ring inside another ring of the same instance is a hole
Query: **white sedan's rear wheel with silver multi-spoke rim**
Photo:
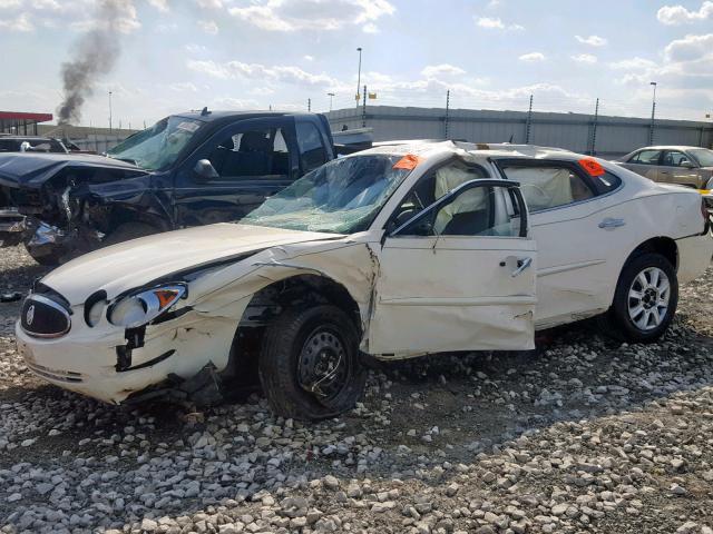
{"type": "Polygon", "coordinates": [[[677,304],[678,280],[671,261],[646,253],[629,259],[622,269],[614,303],[600,323],[618,340],[652,343],[671,325],[677,304]]]}

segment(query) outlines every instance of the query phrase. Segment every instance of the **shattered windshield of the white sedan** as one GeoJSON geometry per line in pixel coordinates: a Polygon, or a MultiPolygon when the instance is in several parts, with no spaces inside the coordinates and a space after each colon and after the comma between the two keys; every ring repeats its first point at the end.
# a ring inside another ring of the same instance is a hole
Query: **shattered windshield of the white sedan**
{"type": "Polygon", "coordinates": [[[372,220],[411,172],[402,156],[336,159],[299,179],[241,220],[290,230],[353,234],[372,220]]]}

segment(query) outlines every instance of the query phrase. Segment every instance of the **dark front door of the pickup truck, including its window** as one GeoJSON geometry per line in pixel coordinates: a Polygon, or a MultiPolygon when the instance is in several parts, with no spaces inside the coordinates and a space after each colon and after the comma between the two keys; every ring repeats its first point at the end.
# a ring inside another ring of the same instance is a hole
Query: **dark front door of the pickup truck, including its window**
{"type": "Polygon", "coordinates": [[[231,125],[187,159],[176,178],[180,226],[240,220],[299,175],[294,120],[231,125]]]}

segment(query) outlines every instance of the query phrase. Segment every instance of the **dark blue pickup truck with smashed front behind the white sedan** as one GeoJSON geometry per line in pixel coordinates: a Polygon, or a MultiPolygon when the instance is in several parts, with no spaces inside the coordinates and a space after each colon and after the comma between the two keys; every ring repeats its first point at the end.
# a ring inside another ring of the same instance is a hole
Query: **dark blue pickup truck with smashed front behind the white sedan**
{"type": "Polygon", "coordinates": [[[55,265],[135,237],[238,220],[334,157],[322,115],[203,109],[167,117],[106,156],[0,154],[0,200],[28,216],[32,257],[55,265]]]}

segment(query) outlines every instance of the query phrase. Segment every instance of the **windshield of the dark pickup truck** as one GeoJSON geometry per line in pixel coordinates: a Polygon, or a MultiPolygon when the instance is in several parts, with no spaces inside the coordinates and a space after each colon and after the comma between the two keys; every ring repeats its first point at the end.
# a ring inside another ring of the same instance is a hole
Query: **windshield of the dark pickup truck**
{"type": "Polygon", "coordinates": [[[199,120],[167,117],[108,150],[107,156],[146,170],[164,169],[176,161],[201,125],[199,120]]]}

